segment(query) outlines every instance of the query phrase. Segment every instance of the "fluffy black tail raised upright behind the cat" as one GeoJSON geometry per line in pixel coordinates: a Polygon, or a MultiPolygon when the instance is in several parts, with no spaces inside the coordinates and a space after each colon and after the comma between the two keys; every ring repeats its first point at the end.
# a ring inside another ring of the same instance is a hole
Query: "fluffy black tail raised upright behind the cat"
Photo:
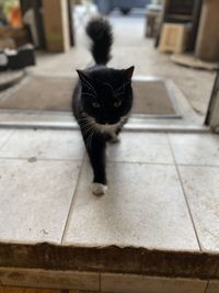
{"type": "Polygon", "coordinates": [[[111,59],[113,44],[112,26],[104,18],[92,19],[87,25],[87,34],[92,40],[91,53],[96,64],[106,65],[111,59]]]}

